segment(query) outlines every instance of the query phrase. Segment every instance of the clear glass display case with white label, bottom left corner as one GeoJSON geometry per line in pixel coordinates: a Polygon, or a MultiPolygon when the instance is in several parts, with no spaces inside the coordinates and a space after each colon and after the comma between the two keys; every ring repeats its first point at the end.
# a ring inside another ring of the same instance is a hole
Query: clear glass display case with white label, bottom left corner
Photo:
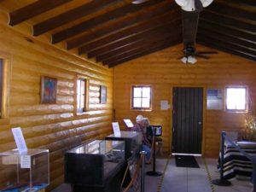
{"type": "Polygon", "coordinates": [[[49,185],[49,150],[28,148],[0,153],[0,191],[35,192],[49,185]]]}

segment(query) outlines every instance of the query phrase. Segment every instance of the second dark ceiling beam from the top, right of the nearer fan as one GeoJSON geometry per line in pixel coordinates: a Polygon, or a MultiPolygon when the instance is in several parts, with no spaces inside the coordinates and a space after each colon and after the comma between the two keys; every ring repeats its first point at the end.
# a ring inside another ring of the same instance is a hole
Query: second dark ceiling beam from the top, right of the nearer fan
{"type": "Polygon", "coordinates": [[[235,18],[227,17],[227,15],[218,15],[217,13],[207,10],[201,12],[200,20],[211,20],[211,22],[220,24],[221,26],[229,26],[241,31],[256,32],[256,24],[253,25],[249,22],[236,20],[235,18]],[[220,17],[221,20],[219,20],[220,17]],[[234,23],[236,23],[236,25],[234,25],[234,23]]]}

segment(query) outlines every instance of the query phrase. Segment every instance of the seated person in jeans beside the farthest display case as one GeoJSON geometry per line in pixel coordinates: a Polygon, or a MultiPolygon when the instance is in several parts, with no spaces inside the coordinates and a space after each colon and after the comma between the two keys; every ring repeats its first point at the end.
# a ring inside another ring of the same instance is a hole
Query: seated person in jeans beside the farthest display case
{"type": "Polygon", "coordinates": [[[148,141],[146,131],[147,131],[147,126],[145,126],[145,120],[148,118],[144,118],[143,115],[139,114],[137,115],[136,118],[136,124],[132,128],[132,131],[137,131],[140,132],[143,136],[143,151],[146,151],[146,164],[150,163],[150,153],[151,153],[151,144],[148,141]]]}

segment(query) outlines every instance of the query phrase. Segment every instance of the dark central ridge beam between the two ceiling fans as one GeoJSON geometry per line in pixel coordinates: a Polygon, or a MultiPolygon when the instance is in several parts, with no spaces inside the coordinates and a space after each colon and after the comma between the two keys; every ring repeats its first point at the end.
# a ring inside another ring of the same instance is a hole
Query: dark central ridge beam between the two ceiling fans
{"type": "Polygon", "coordinates": [[[183,44],[185,47],[195,46],[195,38],[198,26],[199,11],[183,11],[183,44]]]}

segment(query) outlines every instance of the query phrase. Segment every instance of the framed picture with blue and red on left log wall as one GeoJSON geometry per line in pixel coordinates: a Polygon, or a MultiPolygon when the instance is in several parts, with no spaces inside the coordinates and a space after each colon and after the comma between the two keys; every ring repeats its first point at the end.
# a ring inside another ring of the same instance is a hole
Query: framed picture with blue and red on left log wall
{"type": "Polygon", "coordinates": [[[57,79],[41,76],[41,103],[56,103],[57,79]]]}

